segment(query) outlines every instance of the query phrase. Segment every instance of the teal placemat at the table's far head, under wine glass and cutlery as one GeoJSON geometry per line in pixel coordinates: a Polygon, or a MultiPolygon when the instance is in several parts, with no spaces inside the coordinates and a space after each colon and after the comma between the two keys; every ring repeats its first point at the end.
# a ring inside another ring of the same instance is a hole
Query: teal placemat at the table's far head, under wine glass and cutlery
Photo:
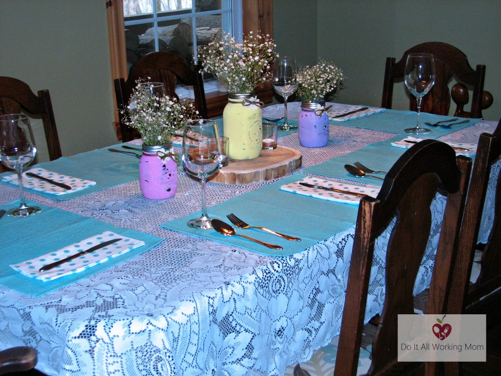
{"type": "MultiPolygon", "coordinates": [[[[336,121],[331,119],[330,122],[347,127],[382,130],[385,132],[393,132],[399,135],[408,136],[409,134],[405,133],[405,129],[414,127],[416,125],[416,116],[417,114],[414,111],[384,110],[383,112],[378,112],[372,115],[359,117],[353,120],[336,121]]],[[[419,115],[419,125],[431,129],[430,133],[424,134],[422,135],[422,137],[437,138],[440,136],[444,136],[451,132],[455,132],[456,130],[474,125],[481,120],[481,119],[468,119],[469,122],[464,124],[453,125],[450,128],[428,127],[423,124],[424,121],[434,124],[437,121],[448,120],[452,118],[454,118],[454,116],[441,116],[441,115],[433,115],[426,112],[421,112],[421,114],[419,115]]],[[[465,118],[458,118],[458,122],[464,119],[465,118]]],[[[421,136],[416,136],[416,137],[421,137],[421,136]]]]}

